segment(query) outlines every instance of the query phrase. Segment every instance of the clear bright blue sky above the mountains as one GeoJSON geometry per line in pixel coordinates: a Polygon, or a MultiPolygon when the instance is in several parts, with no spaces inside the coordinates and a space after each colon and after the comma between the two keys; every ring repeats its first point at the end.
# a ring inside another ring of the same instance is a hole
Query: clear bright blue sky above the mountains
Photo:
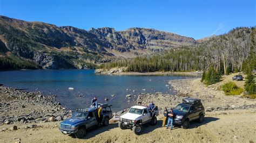
{"type": "Polygon", "coordinates": [[[57,26],[147,27],[195,39],[255,26],[255,0],[0,0],[0,15],[57,26]]]}

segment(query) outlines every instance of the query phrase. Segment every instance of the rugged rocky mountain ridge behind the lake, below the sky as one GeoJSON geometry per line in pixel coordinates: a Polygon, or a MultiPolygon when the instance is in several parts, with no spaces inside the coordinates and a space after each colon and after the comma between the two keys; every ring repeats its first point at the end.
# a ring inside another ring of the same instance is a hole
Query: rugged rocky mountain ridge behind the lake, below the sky
{"type": "Polygon", "coordinates": [[[114,28],[56,26],[44,22],[0,16],[1,55],[30,60],[42,68],[93,68],[114,59],[134,58],[171,48],[196,45],[190,37],[153,28],[114,28]],[[4,52],[3,52],[4,51],[4,52]]]}

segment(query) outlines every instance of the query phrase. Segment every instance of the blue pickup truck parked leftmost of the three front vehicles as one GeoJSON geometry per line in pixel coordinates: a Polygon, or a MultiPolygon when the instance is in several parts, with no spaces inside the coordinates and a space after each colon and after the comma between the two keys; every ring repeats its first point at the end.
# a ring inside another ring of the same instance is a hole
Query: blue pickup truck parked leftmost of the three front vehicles
{"type": "MultiPolygon", "coordinates": [[[[98,104],[103,108],[103,126],[109,125],[109,120],[112,118],[112,111],[110,106],[107,104],[98,104]]],[[[86,131],[91,128],[99,126],[98,119],[98,108],[86,108],[78,109],[73,113],[72,117],[62,121],[59,124],[59,130],[63,134],[75,134],[77,138],[85,137],[86,131]]]]}

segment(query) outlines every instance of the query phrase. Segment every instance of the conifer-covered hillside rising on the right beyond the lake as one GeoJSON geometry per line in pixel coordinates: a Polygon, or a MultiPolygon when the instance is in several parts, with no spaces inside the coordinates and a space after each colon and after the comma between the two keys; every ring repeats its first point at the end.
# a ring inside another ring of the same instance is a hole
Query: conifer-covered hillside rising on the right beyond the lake
{"type": "Polygon", "coordinates": [[[103,64],[100,68],[127,67],[128,71],[192,71],[214,68],[221,74],[255,69],[255,27],[237,27],[198,45],[181,46],[161,54],[138,56],[103,64]]]}

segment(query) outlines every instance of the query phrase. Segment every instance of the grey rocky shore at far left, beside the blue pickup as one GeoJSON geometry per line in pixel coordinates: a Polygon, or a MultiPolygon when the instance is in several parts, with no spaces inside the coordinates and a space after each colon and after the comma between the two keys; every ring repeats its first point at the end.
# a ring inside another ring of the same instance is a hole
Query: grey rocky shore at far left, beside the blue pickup
{"type": "Polygon", "coordinates": [[[71,116],[55,97],[1,86],[0,125],[59,121],[71,116]]]}

